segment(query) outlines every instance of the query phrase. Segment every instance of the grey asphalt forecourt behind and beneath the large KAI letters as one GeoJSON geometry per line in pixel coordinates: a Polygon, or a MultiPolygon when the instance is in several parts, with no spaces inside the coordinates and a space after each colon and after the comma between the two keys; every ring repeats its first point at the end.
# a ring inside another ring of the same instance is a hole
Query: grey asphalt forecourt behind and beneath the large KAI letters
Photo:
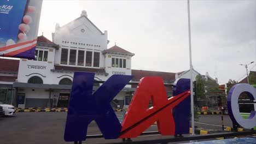
{"type": "MultiPolygon", "coordinates": [[[[120,114],[120,113],[118,113],[120,114]]],[[[0,143],[73,143],[63,140],[67,112],[23,112],[16,113],[13,117],[0,118],[0,143]]],[[[197,127],[207,129],[221,129],[220,116],[202,115],[195,125],[197,127]],[[207,123],[207,124],[205,124],[207,123]],[[208,125],[213,124],[213,125],[208,125]],[[218,125],[218,126],[216,126],[218,125]]],[[[225,126],[229,125],[230,119],[224,117],[225,126]]],[[[157,131],[156,125],[148,128],[146,131],[157,131]]],[[[92,122],[88,127],[87,135],[101,134],[95,122],[92,122]]],[[[173,136],[142,136],[137,139],[160,139],[161,137],[173,136]]],[[[136,140],[136,139],[135,139],[136,140]]],[[[121,140],[104,140],[88,139],[83,143],[105,143],[105,142],[120,142],[121,140]]],[[[181,143],[181,142],[178,142],[181,143]]]]}

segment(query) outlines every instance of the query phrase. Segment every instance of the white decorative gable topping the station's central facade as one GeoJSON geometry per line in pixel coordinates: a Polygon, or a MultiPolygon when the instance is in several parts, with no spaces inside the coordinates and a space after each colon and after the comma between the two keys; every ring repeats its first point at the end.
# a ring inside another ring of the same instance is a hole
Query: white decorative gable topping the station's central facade
{"type": "Polygon", "coordinates": [[[88,49],[107,49],[107,31],[102,33],[94,23],[92,23],[85,10],[77,19],[60,27],[57,23],[53,41],[55,44],[68,47],[82,47],[88,49]]]}

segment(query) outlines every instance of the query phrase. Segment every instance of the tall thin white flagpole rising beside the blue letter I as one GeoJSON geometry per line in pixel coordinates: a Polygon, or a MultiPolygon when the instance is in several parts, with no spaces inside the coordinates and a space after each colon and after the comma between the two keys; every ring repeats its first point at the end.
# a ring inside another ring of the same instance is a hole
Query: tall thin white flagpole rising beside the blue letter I
{"type": "Polygon", "coordinates": [[[195,123],[194,123],[194,97],[193,97],[193,65],[192,65],[192,55],[191,55],[191,33],[190,33],[190,7],[188,0],[188,31],[189,31],[189,71],[190,71],[190,98],[191,98],[191,127],[192,135],[195,135],[195,123]]]}

